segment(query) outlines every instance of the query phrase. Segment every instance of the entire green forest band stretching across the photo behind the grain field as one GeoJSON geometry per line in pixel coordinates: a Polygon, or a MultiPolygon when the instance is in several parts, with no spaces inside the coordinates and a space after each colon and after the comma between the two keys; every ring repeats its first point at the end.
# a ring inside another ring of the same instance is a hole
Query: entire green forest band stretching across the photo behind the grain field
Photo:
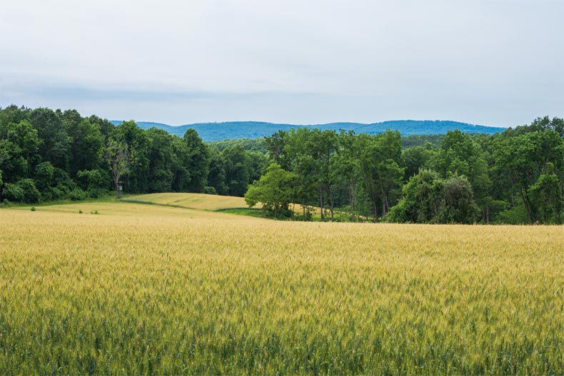
{"type": "Polygon", "coordinates": [[[297,128],[204,143],[190,128],[181,138],[9,106],[0,109],[0,203],[198,192],[244,195],[267,215],[302,220],[317,210],[322,220],[563,223],[563,134],[563,119],[545,117],[493,135],[297,128]]]}

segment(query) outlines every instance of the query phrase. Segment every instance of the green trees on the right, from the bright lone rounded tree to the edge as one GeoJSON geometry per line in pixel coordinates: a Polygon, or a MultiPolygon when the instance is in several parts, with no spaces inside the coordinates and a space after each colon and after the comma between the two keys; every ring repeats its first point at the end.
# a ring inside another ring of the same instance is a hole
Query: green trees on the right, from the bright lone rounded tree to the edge
{"type": "Polygon", "coordinates": [[[400,223],[563,223],[564,121],[494,135],[449,131],[438,146],[300,128],[266,138],[273,162],[245,198],[274,216],[400,223]]]}

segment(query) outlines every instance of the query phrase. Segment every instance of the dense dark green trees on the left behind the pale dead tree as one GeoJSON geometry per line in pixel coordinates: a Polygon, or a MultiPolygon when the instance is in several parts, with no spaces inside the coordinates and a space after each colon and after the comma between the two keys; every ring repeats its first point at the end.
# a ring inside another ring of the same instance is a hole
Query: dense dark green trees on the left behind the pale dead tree
{"type": "Polygon", "coordinates": [[[196,192],[242,196],[268,165],[235,144],[219,150],[188,129],[183,138],[134,121],[119,126],[75,110],[0,108],[0,203],[196,192]]]}

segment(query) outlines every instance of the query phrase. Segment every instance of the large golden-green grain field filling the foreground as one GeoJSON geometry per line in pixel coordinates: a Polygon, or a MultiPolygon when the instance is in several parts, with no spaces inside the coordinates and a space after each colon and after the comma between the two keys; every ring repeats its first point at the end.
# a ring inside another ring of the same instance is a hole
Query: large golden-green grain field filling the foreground
{"type": "Polygon", "coordinates": [[[0,375],[564,372],[562,226],[129,203],[0,225],[0,375]]]}

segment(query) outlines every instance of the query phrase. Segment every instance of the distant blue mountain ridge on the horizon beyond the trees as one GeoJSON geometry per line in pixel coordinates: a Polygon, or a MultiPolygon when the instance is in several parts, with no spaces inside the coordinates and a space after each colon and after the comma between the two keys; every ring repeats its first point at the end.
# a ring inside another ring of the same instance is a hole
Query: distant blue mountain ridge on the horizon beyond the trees
{"type": "MultiPolygon", "coordinates": [[[[111,121],[119,125],[122,121],[111,121]]],[[[392,131],[400,131],[402,136],[445,134],[448,131],[458,129],[463,133],[487,133],[493,134],[502,132],[505,128],[491,126],[477,126],[469,123],[460,123],[458,121],[441,121],[441,120],[394,120],[383,121],[381,123],[326,123],[314,125],[296,125],[296,124],[278,124],[266,123],[263,121],[227,121],[224,123],[193,123],[183,126],[169,126],[163,123],[152,123],[149,121],[139,121],[137,125],[140,128],[161,128],[168,133],[182,137],[188,128],[193,128],[198,132],[203,141],[223,141],[236,140],[238,138],[259,138],[271,136],[277,131],[289,131],[292,128],[319,128],[322,131],[331,129],[338,131],[344,129],[346,131],[355,131],[355,133],[376,134],[386,129],[392,131]]]]}

